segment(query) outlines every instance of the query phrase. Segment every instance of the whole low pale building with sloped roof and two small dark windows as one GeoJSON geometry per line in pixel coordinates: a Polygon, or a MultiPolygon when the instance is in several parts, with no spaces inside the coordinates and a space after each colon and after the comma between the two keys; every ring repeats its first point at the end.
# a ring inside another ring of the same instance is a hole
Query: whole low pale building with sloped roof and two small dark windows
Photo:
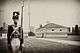
{"type": "Polygon", "coordinates": [[[36,37],[66,37],[69,32],[69,27],[48,23],[36,29],[36,37]]]}

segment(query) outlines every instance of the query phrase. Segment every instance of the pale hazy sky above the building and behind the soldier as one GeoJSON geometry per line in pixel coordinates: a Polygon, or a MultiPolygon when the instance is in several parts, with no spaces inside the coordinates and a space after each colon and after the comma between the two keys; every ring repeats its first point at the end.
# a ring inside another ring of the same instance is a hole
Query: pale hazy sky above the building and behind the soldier
{"type": "MultiPolygon", "coordinates": [[[[0,5],[0,26],[3,22],[12,24],[12,13],[21,13],[21,0],[2,0],[0,5]]],[[[28,1],[24,0],[23,28],[29,30],[28,1]]],[[[79,0],[30,0],[30,25],[45,25],[48,22],[63,26],[80,26],[79,0]]],[[[20,15],[21,18],[21,15],[20,15]]],[[[19,21],[20,24],[20,21],[19,21]]]]}

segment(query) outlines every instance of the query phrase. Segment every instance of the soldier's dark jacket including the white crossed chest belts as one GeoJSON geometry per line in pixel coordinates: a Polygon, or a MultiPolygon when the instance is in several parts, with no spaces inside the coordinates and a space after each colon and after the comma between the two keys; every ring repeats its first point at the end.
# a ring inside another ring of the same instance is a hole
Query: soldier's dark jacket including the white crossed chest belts
{"type": "Polygon", "coordinates": [[[21,43],[23,43],[23,38],[21,35],[21,27],[16,27],[17,29],[15,29],[14,25],[9,25],[8,26],[8,44],[10,45],[12,38],[19,38],[21,43]]]}

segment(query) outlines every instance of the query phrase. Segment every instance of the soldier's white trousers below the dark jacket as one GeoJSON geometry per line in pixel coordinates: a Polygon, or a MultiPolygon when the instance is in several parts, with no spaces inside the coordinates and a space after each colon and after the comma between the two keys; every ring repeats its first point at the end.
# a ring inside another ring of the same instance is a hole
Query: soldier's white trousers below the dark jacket
{"type": "Polygon", "coordinates": [[[16,53],[16,51],[18,51],[19,47],[20,47],[20,39],[19,38],[13,38],[11,40],[11,46],[12,46],[13,53],[16,53]]]}

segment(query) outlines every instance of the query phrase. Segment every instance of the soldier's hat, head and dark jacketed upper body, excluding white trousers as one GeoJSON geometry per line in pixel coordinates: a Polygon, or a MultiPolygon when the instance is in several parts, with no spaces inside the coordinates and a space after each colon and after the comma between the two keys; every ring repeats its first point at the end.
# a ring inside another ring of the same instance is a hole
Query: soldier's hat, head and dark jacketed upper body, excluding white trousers
{"type": "Polygon", "coordinates": [[[14,24],[8,26],[8,34],[7,34],[8,46],[12,47],[12,45],[13,45],[11,43],[12,40],[14,40],[15,38],[18,38],[20,40],[19,49],[21,50],[22,44],[23,44],[23,35],[22,35],[22,28],[20,26],[18,26],[19,12],[13,12],[13,18],[12,19],[14,21],[14,24]]]}

